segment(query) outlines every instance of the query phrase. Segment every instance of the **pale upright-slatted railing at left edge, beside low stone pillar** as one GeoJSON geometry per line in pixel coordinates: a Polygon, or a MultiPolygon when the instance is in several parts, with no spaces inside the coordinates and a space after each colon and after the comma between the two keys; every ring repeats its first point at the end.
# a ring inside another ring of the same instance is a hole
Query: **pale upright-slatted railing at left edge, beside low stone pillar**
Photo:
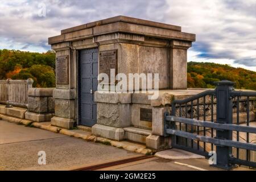
{"type": "Polygon", "coordinates": [[[27,80],[0,80],[0,103],[27,107],[27,91],[32,88],[32,78],[27,80]]]}

